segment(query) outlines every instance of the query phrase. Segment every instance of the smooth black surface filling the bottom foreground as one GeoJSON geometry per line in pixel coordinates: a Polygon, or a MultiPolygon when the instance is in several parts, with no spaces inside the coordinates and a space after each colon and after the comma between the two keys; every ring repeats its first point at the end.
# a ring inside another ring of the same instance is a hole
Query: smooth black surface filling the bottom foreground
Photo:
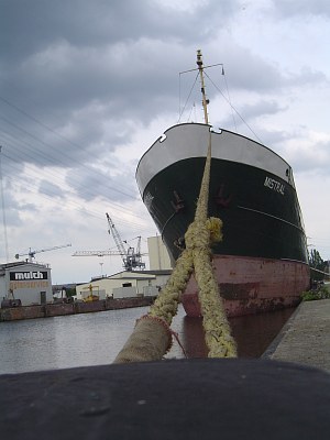
{"type": "Polygon", "coordinates": [[[1,439],[329,439],[330,374],[176,360],[0,376],[1,439]]]}

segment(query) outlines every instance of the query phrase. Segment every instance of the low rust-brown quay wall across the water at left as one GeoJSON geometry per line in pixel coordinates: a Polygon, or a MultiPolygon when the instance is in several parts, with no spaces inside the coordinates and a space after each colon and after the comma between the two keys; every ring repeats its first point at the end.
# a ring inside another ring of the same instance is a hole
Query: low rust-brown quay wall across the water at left
{"type": "Polygon", "coordinates": [[[91,302],[46,304],[43,306],[21,306],[0,308],[1,321],[16,321],[22,319],[51,318],[55,316],[90,314],[105,310],[118,310],[132,307],[151,306],[155,297],[100,299],[91,302]]]}

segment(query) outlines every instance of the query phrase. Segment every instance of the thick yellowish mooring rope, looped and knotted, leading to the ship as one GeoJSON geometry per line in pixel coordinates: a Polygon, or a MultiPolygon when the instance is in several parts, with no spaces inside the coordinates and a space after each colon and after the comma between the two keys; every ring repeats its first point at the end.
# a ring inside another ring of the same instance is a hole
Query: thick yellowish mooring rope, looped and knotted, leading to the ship
{"type": "Polygon", "coordinates": [[[158,361],[170,349],[169,326],[177,312],[180,295],[195,270],[199,301],[209,358],[237,356],[235,342],[230,332],[222,298],[211,265],[211,243],[221,241],[222,222],[207,218],[211,168],[211,133],[195,220],[186,234],[186,249],[147,315],[136,321],[135,328],[114,363],[158,361]]]}

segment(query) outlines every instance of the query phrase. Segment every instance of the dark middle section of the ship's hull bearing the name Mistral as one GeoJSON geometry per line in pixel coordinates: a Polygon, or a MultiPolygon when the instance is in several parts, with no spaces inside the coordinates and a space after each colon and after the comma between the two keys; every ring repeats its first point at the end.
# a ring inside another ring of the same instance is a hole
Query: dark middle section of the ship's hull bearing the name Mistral
{"type": "MultiPolygon", "coordinates": [[[[205,158],[180,161],[158,173],[144,198],[163,240],[176,260],[177,243],[194,220],[205,158]]],[[[212,160],[209,216],[223,221],[216,254],[307,262],[306,237],[295,189],[277,176],[244,164],[212,160]],[[273,179],[279,186],[265,186],[273,179]]]]}

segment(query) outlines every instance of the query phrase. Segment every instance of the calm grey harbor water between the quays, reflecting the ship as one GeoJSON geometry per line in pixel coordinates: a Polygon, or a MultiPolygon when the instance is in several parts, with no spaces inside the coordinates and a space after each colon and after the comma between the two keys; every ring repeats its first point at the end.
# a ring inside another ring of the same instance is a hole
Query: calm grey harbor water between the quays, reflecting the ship
{"type": "MultiPolygon", "coordinates": [[[[139,307],[0,322],[0,374],[110,364],[131,334],[135,320],[147,310],[148,307],[139,307]]],[[[294,310],[231,318],[239,356],[261,356],[294,310]]],[[[185,353],[174,340],[166,358],[207,356],[200,318],[186,317],[180,307],[172,329],[185,353]]]]}

